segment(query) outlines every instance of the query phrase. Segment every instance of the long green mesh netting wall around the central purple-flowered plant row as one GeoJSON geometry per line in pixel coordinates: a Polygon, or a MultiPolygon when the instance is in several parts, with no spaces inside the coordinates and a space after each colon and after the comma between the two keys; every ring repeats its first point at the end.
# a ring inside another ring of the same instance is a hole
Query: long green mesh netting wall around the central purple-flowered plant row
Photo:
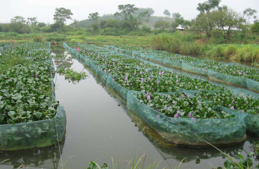
{"type": "MultiPolygon", "coordinates": [[[[121,99],[126,101],[128,109],[142,118],[146,124],[152,127],[152,129],[154,129],[166,142],[179,146],[191,147],[208,146],[207,142],[222,146],[244,141],[247,137],[246,130],[249,133],[258,133],[259,124],[254,123],[254,121],[258,121],[258,115],[241,113],[240,111],[231,110],[222,106],[220,106],[221,110],[224,110],[230,115],[234,114],[235,117],[228,119],[195,120],[188,118],[169,118],[137,99],[135,93],[140,91],[128,90],[119,85],[114,80],[116,75],[108,75],[104,73],[101,70],[101,66],[98,65],[98,62],[91,61],[87,56],[82,56],[75,51],[75,49],[70,48],[66,43],[64,43],[64,48],[72,55],[75,55],[76,59],[81,63],[90,67],[94,75],[99,76],[107,88],[115,91],[121,99]]],[[[237,93],[242,93],[240,88],[234,89],[237,90],[237,93]]],[[[188,94],[193,94],[193,96],[195,94],[195,92],[191,90],[183,91],[188,92],[188,94]]]]}

